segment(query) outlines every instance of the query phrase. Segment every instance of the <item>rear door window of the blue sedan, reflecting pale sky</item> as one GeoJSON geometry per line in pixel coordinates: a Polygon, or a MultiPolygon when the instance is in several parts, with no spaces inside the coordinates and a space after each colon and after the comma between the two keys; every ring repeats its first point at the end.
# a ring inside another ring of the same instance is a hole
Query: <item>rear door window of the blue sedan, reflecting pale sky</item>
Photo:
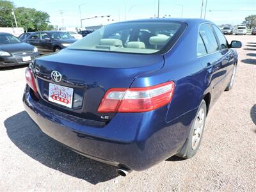
{"type": "Polygon", "coordinates": [[[220,50],[215,35],[209,24],[202,24],[199,28],[199,33],[204,40],[204,44],[208,53],[220,50]]]}

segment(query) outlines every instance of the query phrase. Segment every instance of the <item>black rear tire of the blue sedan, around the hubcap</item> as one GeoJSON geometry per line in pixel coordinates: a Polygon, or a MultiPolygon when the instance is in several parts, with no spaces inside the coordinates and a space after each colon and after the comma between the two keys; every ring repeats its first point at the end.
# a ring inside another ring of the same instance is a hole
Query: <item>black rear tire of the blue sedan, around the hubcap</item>
{"type": "Polygon", "coordinates": [[[193,122],[192,126],[190,127],[189,136],[186,140],[186,143],[183,145],[181,150],[175,156],[182,157],[184,159],[189,159],[189,158],[195,156],[198,148],[200,147],[200,143],[202,141],[202,136],[203,136],[204,127],[205,127],[206,114],[207,114],[207,107],[206,107],[205,100],[203,99],[197,112],[196,112],[194,122],[193,122]],[[198,118],[198,113],[200,112],[201,109],[204,110],[204,124],[202,126],[202,133],[200,134],[200,140],[199,140],[196,148],[193,148],[192,139],[193,139],[193,136],[195,136],[195,124],[196,124],[196,120],[198,118]]]}

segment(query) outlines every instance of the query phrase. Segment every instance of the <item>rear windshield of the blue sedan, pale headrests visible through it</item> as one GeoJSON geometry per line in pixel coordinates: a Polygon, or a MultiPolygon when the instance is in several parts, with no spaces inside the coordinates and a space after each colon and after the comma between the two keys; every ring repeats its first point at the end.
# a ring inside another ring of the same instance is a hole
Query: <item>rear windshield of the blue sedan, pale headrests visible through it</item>
{"type": "Polygon", "coordinates": [[[180,29],[179,22],[123,22],[104,26],[68,49],[152,54],[161,51],[180,29]]]}

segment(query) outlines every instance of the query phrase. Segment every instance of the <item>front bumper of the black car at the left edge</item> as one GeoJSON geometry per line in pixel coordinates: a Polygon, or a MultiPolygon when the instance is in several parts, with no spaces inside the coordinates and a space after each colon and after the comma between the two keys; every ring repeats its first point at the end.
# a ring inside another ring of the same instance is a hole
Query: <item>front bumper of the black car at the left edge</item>
{"type": "MultiPolygon", "coordinates": [[[[33,54],[26,54],[24,56],[30,56],[31,61],[35,59],[36,56],[38,56],[39,53],[35,52],[33,54]]],[[[15,65],[27,65],[31,63],[31,61],[22,61],[22,58],[24,56],[4,56],[0,58],[0,67],[10,67],[15,65]]]]}

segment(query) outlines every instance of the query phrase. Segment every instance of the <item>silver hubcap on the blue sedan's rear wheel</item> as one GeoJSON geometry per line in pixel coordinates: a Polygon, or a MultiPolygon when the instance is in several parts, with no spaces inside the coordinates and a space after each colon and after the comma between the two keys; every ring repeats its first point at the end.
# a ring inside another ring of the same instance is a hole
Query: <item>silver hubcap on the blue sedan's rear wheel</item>
{"type": "Polygon", "coordinates": [[[192,149],[195,150],[199,144],[200,139],[202,138],[202,132],[204,129],[204,119],[205,119],[205,111],[204,109],[200,109],[198,115],[196,116],[195,125],[193,129],[192,136],[192,149]]]}

